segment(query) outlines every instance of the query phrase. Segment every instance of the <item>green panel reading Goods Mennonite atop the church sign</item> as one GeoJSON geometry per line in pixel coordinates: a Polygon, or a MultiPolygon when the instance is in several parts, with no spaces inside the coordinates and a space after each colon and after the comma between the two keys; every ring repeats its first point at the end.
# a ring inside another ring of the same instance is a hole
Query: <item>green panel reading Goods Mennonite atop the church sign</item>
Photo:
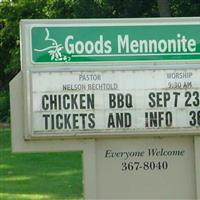
{"type": "Polygon", "coordinates": [[[32,61],[200,59],[200,25],[33,26],[32,61]]]}

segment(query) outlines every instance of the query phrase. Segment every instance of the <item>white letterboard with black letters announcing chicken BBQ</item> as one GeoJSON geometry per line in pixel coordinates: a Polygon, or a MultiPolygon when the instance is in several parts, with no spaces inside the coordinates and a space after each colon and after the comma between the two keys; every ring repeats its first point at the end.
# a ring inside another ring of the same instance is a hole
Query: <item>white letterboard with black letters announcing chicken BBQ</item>
{"type": "Polygon", "coordinates": [[[200,70],[33,72],[32,136],[125,135],[200,126],[200,70]]]}

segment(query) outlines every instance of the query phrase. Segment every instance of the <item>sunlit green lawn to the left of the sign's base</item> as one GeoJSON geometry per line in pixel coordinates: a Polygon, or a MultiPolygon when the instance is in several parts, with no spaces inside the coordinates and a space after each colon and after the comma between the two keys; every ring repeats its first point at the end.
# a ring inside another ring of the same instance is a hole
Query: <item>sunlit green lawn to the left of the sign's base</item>
{"type": "Polygon", "coordinates": [[[81,153],[11,153],[10,129],[0,129],[0,199],[82,199],[81,153]]]}

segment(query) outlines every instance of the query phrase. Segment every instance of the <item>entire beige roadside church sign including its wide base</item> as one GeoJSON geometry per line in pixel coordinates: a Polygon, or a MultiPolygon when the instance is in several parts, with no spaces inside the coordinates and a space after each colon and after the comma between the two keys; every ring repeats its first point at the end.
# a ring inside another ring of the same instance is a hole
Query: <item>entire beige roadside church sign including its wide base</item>
{"type": "Polygon", "coordinates": [[[83,151],[86,199],[200,198],[199,18],[24,20],[21,56],[13,151],[83,151]]]}

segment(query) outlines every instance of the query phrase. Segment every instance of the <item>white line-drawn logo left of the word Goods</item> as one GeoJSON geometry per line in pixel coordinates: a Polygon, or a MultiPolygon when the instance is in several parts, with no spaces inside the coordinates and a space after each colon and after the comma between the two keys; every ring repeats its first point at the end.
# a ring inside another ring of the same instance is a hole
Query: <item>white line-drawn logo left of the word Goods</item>
{"type": "Polygon", "coordinates": [[[52,61],[67,61],[68,58],[66,56],[63,56],[61,53],[62,49],[64,48],[62,44],[58,44],[58,42],[55,39],[50,38],[48,28],[45,28],[45,31],[46,31],[46,37],[44,40],[51,41],[52,42],[51,46],[48,46],[43,49],[34,49],[34,51],[37,51],[37,52],[47,51],[52,61]]]}

